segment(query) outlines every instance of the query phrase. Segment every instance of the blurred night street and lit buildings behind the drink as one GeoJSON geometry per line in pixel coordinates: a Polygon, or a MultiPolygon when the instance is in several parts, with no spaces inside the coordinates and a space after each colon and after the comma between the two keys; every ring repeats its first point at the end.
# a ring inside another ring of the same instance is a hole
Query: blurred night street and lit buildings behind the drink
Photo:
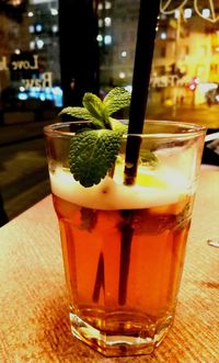
{"type": "MultiPolygon", "coordinates": [[[[139,0],[0,0],[1,225],[49,194],[43,127],[87,91],[131,91],[138,12],[139,0]]],[[[146,117],[219,131],[218,0],[161,0],[146,117]]],[[[218,158],[209,143],[204,161],[218,158]]]]}

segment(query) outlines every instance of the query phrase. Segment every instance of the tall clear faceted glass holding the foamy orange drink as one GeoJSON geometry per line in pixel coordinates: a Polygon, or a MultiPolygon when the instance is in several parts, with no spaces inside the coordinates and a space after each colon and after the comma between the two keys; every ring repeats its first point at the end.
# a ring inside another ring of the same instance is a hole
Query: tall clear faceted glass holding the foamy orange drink
{"type": "Polygon", "coordinates": [[[124,136],[108,174],[83,188],[68,155],[84,125],[45,127],[71,330],[104,355],[151,353],[174,319],[205,128],[149,121],[141,135],[124,136]],[[124,183],[127,138],[140,145],[131,185],[124,183]]]}

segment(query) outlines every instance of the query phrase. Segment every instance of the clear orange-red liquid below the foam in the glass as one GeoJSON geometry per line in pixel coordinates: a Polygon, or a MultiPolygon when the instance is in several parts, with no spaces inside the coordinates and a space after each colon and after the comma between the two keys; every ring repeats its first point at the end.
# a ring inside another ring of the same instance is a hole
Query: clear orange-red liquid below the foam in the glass
{"type": "Polygon", "coordinates": [[[73,314],[99,331],[152,337],[172,321],[191,201],[97,211],[54,195],[73,314]],[[168,322],[169,321],[169,322],[168,322]]]}

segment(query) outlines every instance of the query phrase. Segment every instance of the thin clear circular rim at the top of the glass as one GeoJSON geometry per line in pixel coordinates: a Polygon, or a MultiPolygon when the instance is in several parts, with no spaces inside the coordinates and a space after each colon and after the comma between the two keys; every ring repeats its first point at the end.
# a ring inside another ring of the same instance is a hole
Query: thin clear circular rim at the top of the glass
{"type": "MultiPolygon", "coordinates": [[[[118,120],[119,121],[119,120],[118,120]]],[[[127,120],[120,120],[123,123],[127,124],[128,121],[127,120]]],[[[172,125],[172,126],[177,126],[182,128],[182,132],[178,133],[151,133],[148,134],[146,132],[142,132],[141,134],[124,134],[124,138],[128,137],[128,136],[139,136],[139,137],[143,137],[143,138],[191,138],[191,137],[195,137],[195,136],[199,136],[201,134],[205,135],[207,127],[204,125],[198,125],[198,124],[194,124],[194,123],[184,123],[184,122],[177,122],[177,121],[165,121],[165,120],[146,120],[145,124],[152,124],[152,125],[172,125]]],[[[44,126],[44,134],[46,136],[59,136],[59,137],[69,137],[69,136],[73,136],[76,133],[74,132],[69,132],[69,131],[65,131],[64,128],[70,126],[70,125],[83,125],[83,124],[92,124],[91,121],[85,121],[85,120],[77,120],[77,121],[69,121],[69,122],[57,122],[57,123],[53,123],[50,125],[44,126]]]]}

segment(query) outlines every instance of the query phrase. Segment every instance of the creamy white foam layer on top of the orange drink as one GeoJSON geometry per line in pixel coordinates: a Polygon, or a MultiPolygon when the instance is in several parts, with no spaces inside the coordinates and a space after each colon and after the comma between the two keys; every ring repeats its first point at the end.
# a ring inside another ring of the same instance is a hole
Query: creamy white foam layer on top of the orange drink
{"type": "Polygon", "coordinates": [[[67,170],[57,168],[54,173],[50,172],[54,194],[80,206],[102,211],[162,206],[176,203],[182,194],[186,194],[185,179],[173,170],[160,169],[155,174],[153,172],[149,177],[149,184],[153,184],[153,179],[159,181],[157,186],[126,186],[117,173],[114,180],[106,177],[99,185],[83,188],[67,170]]]}

